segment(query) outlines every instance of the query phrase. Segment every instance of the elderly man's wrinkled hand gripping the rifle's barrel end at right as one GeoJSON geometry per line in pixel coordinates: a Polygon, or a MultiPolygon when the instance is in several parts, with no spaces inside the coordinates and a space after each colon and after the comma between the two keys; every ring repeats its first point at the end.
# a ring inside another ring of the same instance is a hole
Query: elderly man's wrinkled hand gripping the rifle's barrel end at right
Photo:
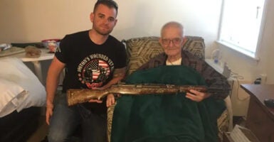
{"type": "Polygon", "coordinates": [[[194,102],[201,102],[208,97],[210,97],[210,94],[199,92],[194,89],[190,89],[189,92],[186,92],[186,98],[189,98],[194,102]]]}

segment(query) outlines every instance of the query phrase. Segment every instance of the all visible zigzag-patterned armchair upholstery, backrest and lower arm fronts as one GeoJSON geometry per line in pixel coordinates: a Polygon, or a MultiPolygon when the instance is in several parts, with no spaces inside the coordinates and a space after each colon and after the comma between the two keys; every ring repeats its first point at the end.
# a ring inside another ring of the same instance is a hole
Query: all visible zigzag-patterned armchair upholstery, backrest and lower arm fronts
{"type": "MultiPolygon", "coordinates": [[[[185,36],[183,49],[189,51],[190,53],[196,55],[197,57],[204,59],[204,38],[198,36],[185,36]]],[[[141,38],[131,38],[128,40],[122,40],[126,45],[127,52],[127,75],[137,70],[141,65],[149,61],[159,53],[163,53],[161,45],[159,44],[159,37],[141,37],[141,38]]],[[[107,136],[108,141],[110,141],[111,136],[111,126],[112,126],[112,116],[115,105],[107,109],[107,136]]],[[[224,111],[220,119],[218,119],[218,136],[221,139],[222,131],[227,131],[228,128],[228,113],[224,111]]]]}

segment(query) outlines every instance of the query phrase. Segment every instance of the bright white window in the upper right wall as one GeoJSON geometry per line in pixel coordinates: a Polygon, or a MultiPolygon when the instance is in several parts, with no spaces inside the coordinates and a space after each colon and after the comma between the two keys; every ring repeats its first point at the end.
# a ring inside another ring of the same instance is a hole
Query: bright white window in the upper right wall
{"type": "Polygon", "coordinates": [[[258,58],[266,0],[223,0],[218,43],[258,58]]]}

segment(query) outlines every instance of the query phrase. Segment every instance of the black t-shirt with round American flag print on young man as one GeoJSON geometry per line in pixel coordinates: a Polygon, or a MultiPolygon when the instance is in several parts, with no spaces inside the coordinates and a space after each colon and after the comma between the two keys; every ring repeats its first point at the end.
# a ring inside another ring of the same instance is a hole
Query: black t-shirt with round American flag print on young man
{"type": "MultiPolygon", "coordinates": [[[[101,87],[112,79],[114,69],[126,66],[125,46],[119,40],[109,35],[105,43],[97,45],[88,31],[65,35],[55,55],[65,63],[63,92],[101,87]]],[[[85,103],[91,109],[102,105],[105,103],[85,103]]]]}

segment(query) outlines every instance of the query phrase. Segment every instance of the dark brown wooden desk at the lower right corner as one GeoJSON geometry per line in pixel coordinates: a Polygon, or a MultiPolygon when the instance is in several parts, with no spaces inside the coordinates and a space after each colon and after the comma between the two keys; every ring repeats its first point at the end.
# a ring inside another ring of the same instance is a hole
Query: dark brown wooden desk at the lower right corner
{"type": "Polygon", "coordinates": [[[241,88],[251,95],[246,127],[261,142],[274,142],[274,109],[263,102],[274,99],[274,84],[241,84],[241,88]]]}

